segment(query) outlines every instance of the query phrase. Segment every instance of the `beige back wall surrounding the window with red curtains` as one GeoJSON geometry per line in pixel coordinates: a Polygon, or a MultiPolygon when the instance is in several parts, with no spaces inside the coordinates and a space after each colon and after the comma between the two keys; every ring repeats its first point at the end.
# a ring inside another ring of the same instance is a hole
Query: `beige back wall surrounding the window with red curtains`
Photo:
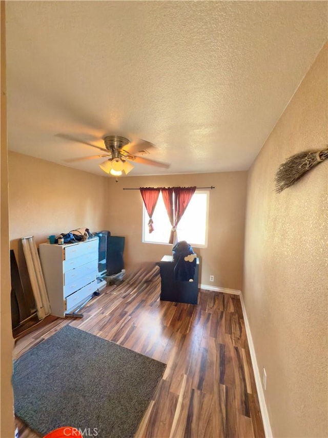
{"type": "Polygon", "coordinates": [[[145,176],[109,179],[108,229],[126,236],[127,268],[143,261],[159,261],[172,254],[172,245],[142,243],[142,199],[140,186],[215,186],[210,191],[209,238],[207,248],[194,248],[200,257],[199,281],[216,287],[241,289],[244,239],[246,172],[217,174],[145,176]],[[214,282],[210,283],[210,275],[214,282]]]}

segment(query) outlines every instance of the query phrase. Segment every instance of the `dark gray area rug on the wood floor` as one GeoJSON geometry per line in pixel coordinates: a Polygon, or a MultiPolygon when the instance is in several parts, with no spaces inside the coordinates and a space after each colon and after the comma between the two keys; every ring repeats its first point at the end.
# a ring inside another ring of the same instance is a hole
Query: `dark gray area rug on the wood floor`
{"type": "Polygon", "coordinates": [[[43,435],[71,426],[98,438],[130,437],[165,368],[66,326],[14,362],[15,413],[43,435]]]}

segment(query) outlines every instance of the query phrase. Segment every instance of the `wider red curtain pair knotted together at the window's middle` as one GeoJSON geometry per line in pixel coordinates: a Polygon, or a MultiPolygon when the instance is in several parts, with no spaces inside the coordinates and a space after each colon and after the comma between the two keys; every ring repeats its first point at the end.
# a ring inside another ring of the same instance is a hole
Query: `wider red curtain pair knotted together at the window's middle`
{"type": "Polygon", "coordinates": [[[162,188],[163,200],[172,225],[169,243],[175,244],[178,240],[176,227],[183,213],[185,213],[195,190],[196,187],[162,188]]]}

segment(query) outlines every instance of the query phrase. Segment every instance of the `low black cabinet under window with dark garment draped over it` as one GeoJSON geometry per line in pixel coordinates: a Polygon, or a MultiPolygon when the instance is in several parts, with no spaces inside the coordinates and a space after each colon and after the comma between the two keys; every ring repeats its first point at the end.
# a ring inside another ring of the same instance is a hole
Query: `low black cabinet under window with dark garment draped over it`
{"type": "Polygon", "coordinates": [[[176,281],[173,256],[163,256],[158,263],[161,277],[160,299],[162,301],[197,304],[199,259],[196,259],[194,281],[176,281]]]}

